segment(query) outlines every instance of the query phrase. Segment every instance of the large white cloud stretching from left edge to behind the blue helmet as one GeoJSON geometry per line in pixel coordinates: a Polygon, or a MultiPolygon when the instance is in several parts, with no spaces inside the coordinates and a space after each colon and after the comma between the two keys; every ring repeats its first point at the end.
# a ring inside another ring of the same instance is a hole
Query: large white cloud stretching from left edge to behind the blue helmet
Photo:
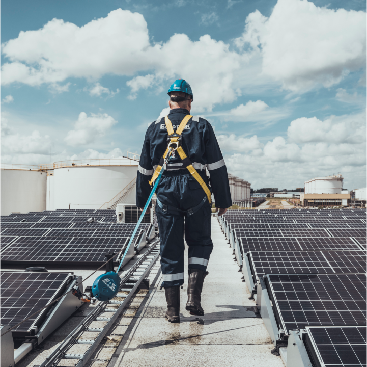
{"type": "Polygon", "coordinates": [[[185,77],[193,88],[197,111],[234,101],[239,81],[247,75],[256,80],[246,68],[250,55],[232,51],[229,44],[209,35],[191,41],[185,34],[174,34],[165,43],[151,44],[144,17],[121,9],[83,27],[52,19],[40,30],[20,32],[18,38],[5,42],[2,53],[9,62],[0,70],[1,85],[37,86],[68,77],[96,80],[104,74],[153,70],[128,82],[131,98],[150,87],[152,80],[159,89],[160,83],[185,77]]]}

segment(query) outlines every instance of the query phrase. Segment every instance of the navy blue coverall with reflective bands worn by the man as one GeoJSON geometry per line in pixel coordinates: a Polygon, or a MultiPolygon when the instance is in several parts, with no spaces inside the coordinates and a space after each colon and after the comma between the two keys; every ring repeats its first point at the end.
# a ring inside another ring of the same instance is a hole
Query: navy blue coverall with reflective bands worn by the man
{"type": "MultiPolygon", "coordinates": [[[[173,109],[168,118],[176,131],[182,119],[189,114],[186,109],[173,109]]],[[[136,180],[136,205],[144,207],[151,193],[149,180],[167,148],[167,129],[164,117],[154,121],[145,135],[136,180]]],[[[232,205],[227,168],[210,123],[197,116],[190,119],[182,132],[181,145],[193,167],[208,185],[206,169],[215,206],[232,205]]],[[[187,211],[198,205],[205,192],[189,171],[180,169],[181,159],[176,153],[167,165],[157,187],[157,199],[166,205],[187,211]]],[[[211,234],[211,205],[206,203],[194,214],[173,215],[156,205],[160,234],[160,255],[163,275],[161,286],[170,287],[184,283],[184,235],[188,249],[188,268],[206,271],[213,250],[211,234]]]]}

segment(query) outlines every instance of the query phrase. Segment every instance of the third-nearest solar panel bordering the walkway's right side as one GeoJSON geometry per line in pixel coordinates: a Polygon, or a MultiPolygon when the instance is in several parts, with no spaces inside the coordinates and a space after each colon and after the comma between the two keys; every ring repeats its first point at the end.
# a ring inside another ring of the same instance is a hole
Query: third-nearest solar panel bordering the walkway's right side
{"type": "Polygon", "coordinates": [[[321,251],[250,251],[255,279],[264,274],[332,273],[321,251]]]}

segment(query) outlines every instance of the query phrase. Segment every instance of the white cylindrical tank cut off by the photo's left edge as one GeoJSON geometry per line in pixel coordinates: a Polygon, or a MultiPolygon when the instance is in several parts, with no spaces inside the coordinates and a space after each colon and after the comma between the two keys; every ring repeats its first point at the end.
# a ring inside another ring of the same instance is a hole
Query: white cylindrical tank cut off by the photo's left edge
{"type": "Polygon", "coordinates": [[[44,211],[46,177],[37,168],[0,169],[0,215],[44,211]]]}

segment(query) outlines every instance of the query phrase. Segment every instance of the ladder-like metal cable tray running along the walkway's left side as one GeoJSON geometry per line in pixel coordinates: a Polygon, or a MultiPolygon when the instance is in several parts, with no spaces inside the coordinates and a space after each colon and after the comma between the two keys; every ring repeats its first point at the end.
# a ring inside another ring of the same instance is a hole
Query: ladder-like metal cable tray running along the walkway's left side
{"type": "Polygon", "coordinates": [[[129,303],[140,282],[142,282],[150,272],[158,257],[159,240],[156,240],[121,279],[119,291],[129,293],[127,295],[118,293],[116,297],[110,301],[99,302],[88,316],[86,316],[86,318],[84,318],[84,320],[66,337],[60,347],[52,352],[39,367],[55,367],[62,359],[79,359],[75,367],[84,366],[102,342],[108,330],[115,323],[121,311],[129,303]],[[128,286],[131,286],[131,288],[128,286]],[[121,298],[125,299],[121,301],[121,298]],[[108,308],[108,305],[119,305],[119,307],[108,308]],[[111,316],[101,316],[103,313],[109,313],[111,316]],[[106,321],[107,323],[102,328],[89,327],[93,321],[106,321]],[[81,337],[83,332],[95,332],[97,337],[95,339],[83,339],[81,337]],[[89,344],[90,347],[84,354],[67,354],[70,348],[75,344],[89,344]]]}

